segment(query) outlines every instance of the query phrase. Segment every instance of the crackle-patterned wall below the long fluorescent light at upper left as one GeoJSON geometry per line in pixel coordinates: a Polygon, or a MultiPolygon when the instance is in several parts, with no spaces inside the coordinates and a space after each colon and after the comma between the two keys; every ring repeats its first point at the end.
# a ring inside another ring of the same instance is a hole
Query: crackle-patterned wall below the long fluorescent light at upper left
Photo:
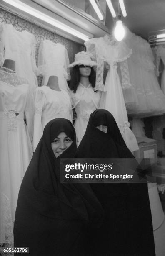
{"type": "MultiPolygon", "coordinates": [[[[38,60],[38,50],[40,46],[40,42],[45,39],[49,39],[55,43],[60,43],[64,45],[67,49],[67,53],[69,56],[70,63],[74,61],[74,56],[78,51],[83,50],[83,46],[78,43],[75,43],[67,38],[59,36],[51,31],[46,30],[45,28],[39,27],[33,23],[30,23],[23,18],[18,17],[12,13],[9,13],[0,8],[0,23],[7,23],[12,24],[16,30],[23,31],[27,30],[28,32],[32,33],[36,39],[36,63],[38,60]]],[[[42,77],[37,77],[38,85],[41,85],[42,77]]]]}

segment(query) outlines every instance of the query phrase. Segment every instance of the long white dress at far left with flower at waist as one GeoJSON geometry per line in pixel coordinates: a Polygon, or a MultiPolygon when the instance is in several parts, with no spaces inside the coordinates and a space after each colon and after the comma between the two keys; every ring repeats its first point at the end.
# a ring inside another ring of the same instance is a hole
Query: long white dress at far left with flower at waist
{"type": "Polygon", "coordinates": [[[32,104],[27,80],[0,70],[0,244],[9,247],[18,192],[32,158],[32,104]]]}

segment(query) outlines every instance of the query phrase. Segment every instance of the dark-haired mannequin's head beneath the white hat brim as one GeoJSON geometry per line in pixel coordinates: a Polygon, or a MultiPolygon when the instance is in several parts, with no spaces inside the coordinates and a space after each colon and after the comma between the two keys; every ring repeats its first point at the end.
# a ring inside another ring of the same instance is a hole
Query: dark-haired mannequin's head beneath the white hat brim
{"type": "Polygon", "coordinates": [[[89,82],[92,84],[92,87],[95,87],[96,74],[93,67],[84,66],[84,65],[76,65],[72,68],[70,72],[71,79],[69,83],[69,87],[73,92],[76,92],[77,86],[80,83],[81,77],[88,77],[89,82]]]}

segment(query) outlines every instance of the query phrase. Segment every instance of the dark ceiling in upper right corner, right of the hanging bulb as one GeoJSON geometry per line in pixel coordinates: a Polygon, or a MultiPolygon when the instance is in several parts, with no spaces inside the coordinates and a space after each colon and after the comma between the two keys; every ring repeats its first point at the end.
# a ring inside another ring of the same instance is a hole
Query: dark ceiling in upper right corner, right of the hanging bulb
{"type": "MultiPolygon", "coordinates": [[[[115,11],[118,0],[111,0],[115,11]]],[[[165,0],[124,0],[127,17],[123,23],[145,39],[148,33],[165,29],[165,0]]]]}

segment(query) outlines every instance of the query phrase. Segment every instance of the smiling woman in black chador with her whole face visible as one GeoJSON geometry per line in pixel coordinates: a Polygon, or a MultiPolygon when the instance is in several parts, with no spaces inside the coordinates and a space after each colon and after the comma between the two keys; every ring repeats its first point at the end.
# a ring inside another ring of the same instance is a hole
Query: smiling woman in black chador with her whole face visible
{"type": "Polygon", "coordinates": [[[77,150],[75,129],[63,118],[50,121],[20,187],[14,246],[30,256],[86,255],[85,230],[99,223],[102,207],[87,184],[61,184],[60,158],[77,150]]]}

